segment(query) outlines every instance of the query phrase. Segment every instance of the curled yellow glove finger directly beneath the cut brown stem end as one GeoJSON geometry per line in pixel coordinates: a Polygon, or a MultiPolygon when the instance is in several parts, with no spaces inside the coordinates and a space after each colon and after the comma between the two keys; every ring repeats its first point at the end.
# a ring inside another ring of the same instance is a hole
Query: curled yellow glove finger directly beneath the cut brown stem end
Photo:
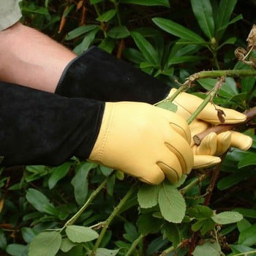
{"type": "Polygon", "coordinates": [[[194,154],[214,156],[217,151],[217,134],[211,132],[206,135],[199,146],[192,147],[194,154]]]}

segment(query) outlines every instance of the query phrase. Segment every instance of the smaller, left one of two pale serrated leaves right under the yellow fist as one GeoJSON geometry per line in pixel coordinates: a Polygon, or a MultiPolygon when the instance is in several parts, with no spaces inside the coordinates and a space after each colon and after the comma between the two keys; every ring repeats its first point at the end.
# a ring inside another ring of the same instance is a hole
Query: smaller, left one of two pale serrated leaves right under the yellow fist
{"type": "Polygon", "coordinates": [[[143,184],[138,191],[138,203],[141,208],[157,206],[159,186],[143,184]]]}

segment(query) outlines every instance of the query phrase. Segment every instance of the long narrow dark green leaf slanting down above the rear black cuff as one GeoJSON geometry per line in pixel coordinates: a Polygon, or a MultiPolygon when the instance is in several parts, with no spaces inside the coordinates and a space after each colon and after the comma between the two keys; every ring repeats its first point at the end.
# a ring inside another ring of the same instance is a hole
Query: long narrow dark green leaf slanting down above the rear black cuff
{"type": "Polygon", "coordinates": [[[158,65],[160,60],[157,54],[157,51],[154,50],[153,46],[150,42],[148,42],[145,37],[143,37],[140,33],[131,31],[130,32],[132,38],[135,40],[135,44],[140,49],[141,53],[143,54],[144,58],[148,63],[158,65]]]}

